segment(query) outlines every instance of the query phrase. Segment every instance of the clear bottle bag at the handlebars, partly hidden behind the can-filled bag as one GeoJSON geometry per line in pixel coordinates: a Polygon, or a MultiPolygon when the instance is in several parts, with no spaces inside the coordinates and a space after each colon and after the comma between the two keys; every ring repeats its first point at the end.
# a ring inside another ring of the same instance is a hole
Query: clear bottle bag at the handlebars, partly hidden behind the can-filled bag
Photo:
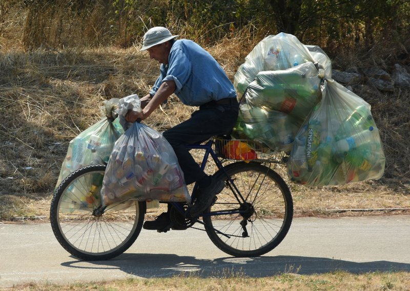
{"type": "Polygon", "coordinates": [[[115,141],[124,133],[119,120],[112,121],[118,101],[117,98],[104,101],[104,106],[101,107],[104,117],[70,141],[56,188],[75,170],[90,164],[108,162],[115,141]]]}

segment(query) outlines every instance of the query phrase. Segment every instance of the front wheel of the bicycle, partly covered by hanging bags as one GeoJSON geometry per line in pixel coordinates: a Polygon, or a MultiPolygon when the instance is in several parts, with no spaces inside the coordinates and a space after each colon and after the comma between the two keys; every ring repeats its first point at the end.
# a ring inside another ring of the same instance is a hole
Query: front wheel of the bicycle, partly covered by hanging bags
{"type": "Polygon", "coordinates": [[[105,170],[106,165],[88,165],[71,173],[51,201],[50,222],[56,239],[70,254],[86,261],[108,260],[124,253],[144,222],[145,201],[109,205],[101,216],[93,215],[100,205],[105,170]]]}

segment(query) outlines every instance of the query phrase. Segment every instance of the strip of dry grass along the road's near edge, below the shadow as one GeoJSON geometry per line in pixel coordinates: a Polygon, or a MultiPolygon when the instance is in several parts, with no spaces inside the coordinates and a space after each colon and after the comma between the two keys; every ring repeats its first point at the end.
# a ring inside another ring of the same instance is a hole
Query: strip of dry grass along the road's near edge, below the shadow
{"type": "Polygon", "coordinates": [[[33,290],[409,290],[408,272],[351,274],[337,271],[327,274],[298,275],[284,273],[272,277],[251,278],[234,274],[218,278],[178,276],[161,279],[117,280],[110,282],[74,283],[70,285],[37,284],[10,288],[10,291],[33,290]]]}

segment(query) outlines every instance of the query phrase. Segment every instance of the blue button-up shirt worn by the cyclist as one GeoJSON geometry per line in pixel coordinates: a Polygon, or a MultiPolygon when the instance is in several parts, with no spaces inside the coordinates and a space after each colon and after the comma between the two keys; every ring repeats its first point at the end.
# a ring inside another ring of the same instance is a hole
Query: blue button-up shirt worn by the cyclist
{"type": "Polygon", "coordinates": [[[176,85],[174,93],[185,105],[200,106],[212,100],[236,97],[232,82],[218,62],[192,40],[176,40],[168,65],[161,64],[159,70],[151,95],[162,82],[173,80],[176,85]]]}

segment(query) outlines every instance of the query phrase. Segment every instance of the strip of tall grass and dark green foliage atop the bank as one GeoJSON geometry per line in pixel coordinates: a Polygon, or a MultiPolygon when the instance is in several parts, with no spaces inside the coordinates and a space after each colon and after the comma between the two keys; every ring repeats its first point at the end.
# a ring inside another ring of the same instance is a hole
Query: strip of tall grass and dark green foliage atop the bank
{"type": "Polygon", "coordinates": [[[406,0],[4,0],[0,19],[11,5],[27,13],[27,48],[127,47],[153,26],[201,44],[247,30],[259,38],[283,31],[321,47],[370,48],[387,36],[408,39],[410,22],[406,0]]]}

